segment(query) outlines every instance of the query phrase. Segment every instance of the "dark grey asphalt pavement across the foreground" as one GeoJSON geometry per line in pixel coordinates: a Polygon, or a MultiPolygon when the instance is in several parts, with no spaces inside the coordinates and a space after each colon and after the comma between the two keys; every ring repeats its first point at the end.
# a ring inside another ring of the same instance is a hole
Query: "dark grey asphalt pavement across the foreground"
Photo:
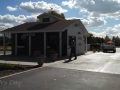
{"type": "Polygon", "coordinates": [[[120,75],[44,67],[0,79],[0,90],[119,90],[120,75]]]}

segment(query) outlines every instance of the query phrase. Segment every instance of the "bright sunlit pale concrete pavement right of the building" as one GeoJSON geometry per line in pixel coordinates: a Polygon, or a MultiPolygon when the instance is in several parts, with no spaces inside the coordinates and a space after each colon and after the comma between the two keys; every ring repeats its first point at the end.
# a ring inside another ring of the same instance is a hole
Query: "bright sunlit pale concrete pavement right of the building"
{"type": "Polygon", "coordinates": [[[96,52],[78,56],[77,60],[68,63],[65,63],[66,61],[55,62],[49,67],[120,74],[120,48],[117,48],[116,53],[96,52]]]}

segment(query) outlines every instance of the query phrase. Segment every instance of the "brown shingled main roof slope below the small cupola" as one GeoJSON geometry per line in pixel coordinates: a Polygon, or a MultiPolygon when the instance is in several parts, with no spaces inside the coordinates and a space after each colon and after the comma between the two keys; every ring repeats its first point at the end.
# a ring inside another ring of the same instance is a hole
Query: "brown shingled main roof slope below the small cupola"
{"type": "Polygon", "coordinates": [[[26,31],[38,31],[38,30],[63,30],[67,26],[75,23],[76,20],[59,20],[54,23],[40,23],[40,22],[28,22],[24,23],[4,31],[2,33],[13,33],[13,32],[26,32],[26,31]]]}

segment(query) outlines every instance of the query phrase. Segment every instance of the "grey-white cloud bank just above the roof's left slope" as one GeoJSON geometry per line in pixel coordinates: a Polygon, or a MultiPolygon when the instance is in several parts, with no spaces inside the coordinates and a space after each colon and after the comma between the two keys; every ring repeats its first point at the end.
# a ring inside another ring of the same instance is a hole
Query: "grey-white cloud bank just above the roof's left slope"
{"type": "Polygon", "coordinates": [[[10,28],[14,25],[22,24],[25,22],[35,22],[37,15],[25,16],[25,15],[0,15],[0,28],[10,28]]]}

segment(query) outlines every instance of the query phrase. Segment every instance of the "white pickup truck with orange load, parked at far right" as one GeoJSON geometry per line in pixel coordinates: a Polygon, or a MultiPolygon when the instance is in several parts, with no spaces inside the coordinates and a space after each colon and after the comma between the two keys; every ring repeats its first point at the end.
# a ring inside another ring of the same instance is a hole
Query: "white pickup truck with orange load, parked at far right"
{"type": "Polygon", "coordinates": [[[113,53],[116,53],[116,46],[114,42],[108,41],[106,44],[103,45],[103,52],[112,51],[113,53]]]}

